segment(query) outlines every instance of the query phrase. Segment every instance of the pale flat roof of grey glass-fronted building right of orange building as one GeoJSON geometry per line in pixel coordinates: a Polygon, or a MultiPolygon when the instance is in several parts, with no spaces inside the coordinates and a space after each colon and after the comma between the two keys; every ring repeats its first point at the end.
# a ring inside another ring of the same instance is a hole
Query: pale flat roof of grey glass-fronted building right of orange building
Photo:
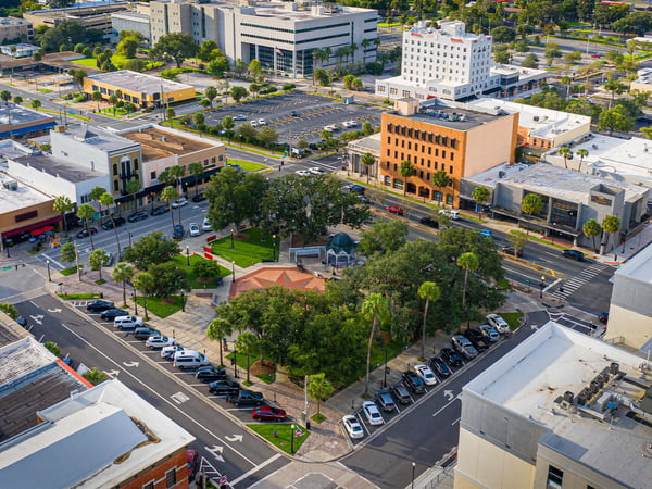
{"type": "Polygon", "coordinates": [[[538,193],[557,197],[570,202],[586,202],[589,191],[599,185],[625,190],[625,201],[640,198],[647,187],[623,181],[605,180],[586,173],[573,172],[548,163],[537,163],[502,178],[501,181],[538,193]]]}

